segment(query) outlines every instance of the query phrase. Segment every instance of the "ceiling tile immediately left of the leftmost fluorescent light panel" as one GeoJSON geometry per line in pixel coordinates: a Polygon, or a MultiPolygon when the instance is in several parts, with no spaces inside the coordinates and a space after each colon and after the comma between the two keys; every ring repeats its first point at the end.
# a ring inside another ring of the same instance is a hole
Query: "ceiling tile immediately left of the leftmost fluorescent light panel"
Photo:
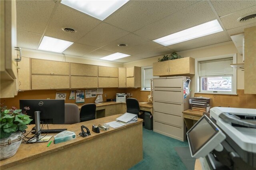
{"type": "Polygon", "coordinates": [[[37,49],[41,37],[40,34],[17,30],[17,47],[37,49]]]}

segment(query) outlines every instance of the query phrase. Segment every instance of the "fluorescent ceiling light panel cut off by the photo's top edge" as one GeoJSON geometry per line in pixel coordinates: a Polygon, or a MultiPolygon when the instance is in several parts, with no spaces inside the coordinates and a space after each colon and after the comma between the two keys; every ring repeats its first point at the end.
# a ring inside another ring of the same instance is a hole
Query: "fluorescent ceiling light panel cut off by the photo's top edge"
{"type": "Polygon", "coordinates": [[[61,3],[103,21],[128,1],[129,0],[62,0],[61,3]]]}

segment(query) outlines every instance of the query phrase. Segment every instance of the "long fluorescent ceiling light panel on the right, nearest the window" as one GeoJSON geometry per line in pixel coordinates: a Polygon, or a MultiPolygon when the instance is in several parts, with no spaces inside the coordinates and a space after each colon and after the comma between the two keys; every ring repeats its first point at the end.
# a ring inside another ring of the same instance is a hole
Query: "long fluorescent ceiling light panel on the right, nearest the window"
{"type": "Polygon", "coordinates": [[[166,37],[162,37],[153,41],[164,46],[168,46],[188,41],[190,39],[210,35],[213,33],[218,33],[220,31],[223,31],[222,27],[220,26],[220,23],[218,22],[218,20],[213,20],[171,35],[167,35],[166,37]]]}

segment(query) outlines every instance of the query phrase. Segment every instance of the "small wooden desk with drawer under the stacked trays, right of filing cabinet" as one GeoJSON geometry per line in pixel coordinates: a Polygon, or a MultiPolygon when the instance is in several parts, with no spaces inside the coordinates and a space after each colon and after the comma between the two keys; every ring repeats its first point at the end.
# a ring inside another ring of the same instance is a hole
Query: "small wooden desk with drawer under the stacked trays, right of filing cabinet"
{"type": "Polygon", "coordinates": [[[203,111],[187,109],[182,111],[183,119],[188,130],[203,116],[203,111]]]}

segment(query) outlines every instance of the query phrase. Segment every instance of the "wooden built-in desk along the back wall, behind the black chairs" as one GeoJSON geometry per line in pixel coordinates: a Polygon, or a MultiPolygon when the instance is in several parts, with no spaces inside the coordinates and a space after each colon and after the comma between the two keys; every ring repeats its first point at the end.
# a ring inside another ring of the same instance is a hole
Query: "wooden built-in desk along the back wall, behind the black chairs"
{"type": "MultiPolygon", "coordinates": [[[[146,102],[139,102],[141,111],[148,111],[153,115],[153,105],[146,102]]],[[[79,109],[82,105],[78,105],[79,109]]],[[[110,115],[126,113],[125,102],[102,102],[96,104],[96,119],[110,115]]]]}

